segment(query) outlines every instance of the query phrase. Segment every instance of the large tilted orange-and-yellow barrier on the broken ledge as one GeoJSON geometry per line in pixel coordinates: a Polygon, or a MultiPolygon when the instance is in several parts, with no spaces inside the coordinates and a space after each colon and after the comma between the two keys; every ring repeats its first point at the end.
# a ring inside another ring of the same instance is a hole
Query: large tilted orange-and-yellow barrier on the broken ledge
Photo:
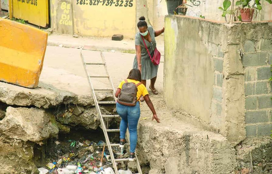
{"type": "Polygon", "coordinates": [[[47,36],[39,29],[0,18],[0,81],[37,87],[47,36]]]}

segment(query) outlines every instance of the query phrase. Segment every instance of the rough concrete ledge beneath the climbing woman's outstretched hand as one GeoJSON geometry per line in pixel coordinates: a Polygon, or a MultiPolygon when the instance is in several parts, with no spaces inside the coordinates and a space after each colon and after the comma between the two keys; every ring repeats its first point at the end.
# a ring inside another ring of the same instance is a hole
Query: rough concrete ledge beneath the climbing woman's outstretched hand
{"type": "Polygon", "coordinates": [[[176,118],[139,124],[139,158],[150,174],[226,174],[235,169],[235,149],[222,135],[176,118]]]}

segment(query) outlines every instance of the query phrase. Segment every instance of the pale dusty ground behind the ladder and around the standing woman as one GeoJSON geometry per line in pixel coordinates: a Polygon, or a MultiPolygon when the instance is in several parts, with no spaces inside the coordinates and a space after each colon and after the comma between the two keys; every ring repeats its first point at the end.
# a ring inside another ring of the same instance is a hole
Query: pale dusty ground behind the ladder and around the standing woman
{"type": "MultiPolygon", "coordinates": [[[[81,62],[80,52],[81,49],[47,46],[40,82],[49,83],[56,88],[68,90],[76,94],[90,93],[88,81],[86,79],[86,75],[81,62]],[[77,81],[74,81],[73,79],[71,80],[71,75],[77,76],[77,78],[73,78],[77,81]]],[[[86,62],[101,61],[99,51],[82,50],[82,53],[86,62]]],[[[129,70],[132,69],[135,54],[120,52],[103,52],[103,54],[105,56],[109,74],[112,77],[113,84],[117,88],[120,81],[125,79],[129,73],[129,70]]],[[[153,100],[154,103],[160,101],[160,104],[158,106],[157,104],[155,104],[155,107],[157,107],[155,109],[161,109],[162,105],[164,105],[164,103],[162,102],[163,65],[163,62],[159,65],[157,82],[155,84],[155,87],[158,89],[160,94],[154,95],[149,90],[151,100],[153,100]]],[[[98,65],[90,65],[90,67],[88,67],[88,71],[90,72],[90,74],[93,75],[103,75],[105,73],[104,67],[98,65]]],[[[101,85],[103,85],[103,87],[106,87],[106,82],[107,80],[99,79],[97,81],[94,81],[94,85],[95,87],[102,87],[101,85]]],[[[147,81],[147,87],[149,86],[149,84],[150,80],[147,81]]],[[[142,107],[145,106],[146,104],[142,104],[142,107]]],[[[142,117],[144,115],[145,114],[142,114],[142,117]]],[[[158,112],[158,116],[159,115],[160,112],[158,112]]],[[[150,117],[151,116],[152,114],[150,115],[150,117]]]]}

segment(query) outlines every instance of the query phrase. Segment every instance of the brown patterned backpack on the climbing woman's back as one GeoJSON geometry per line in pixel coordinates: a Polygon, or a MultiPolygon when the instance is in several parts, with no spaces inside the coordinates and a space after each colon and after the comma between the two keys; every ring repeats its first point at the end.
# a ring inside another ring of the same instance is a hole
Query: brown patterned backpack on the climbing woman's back
{"type": "Polygon", "coordinates": [[[126,106],[136,106],[137,103],[137,86],[142,84],[139,82],[138,84],[128,82],[125,80],[126,83],[122,85],[122,89],[120,94],[118,95],[117,102],[126,106]]]}

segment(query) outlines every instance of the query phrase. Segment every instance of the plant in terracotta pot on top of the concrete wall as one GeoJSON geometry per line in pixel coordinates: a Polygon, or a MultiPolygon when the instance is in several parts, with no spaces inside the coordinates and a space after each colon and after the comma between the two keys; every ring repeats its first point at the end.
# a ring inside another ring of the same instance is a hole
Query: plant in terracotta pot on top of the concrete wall
{"type": "MultiPolygon", "coordinates": [[[[239,0],[236,1],[236,5],[242,5],[242,8],[238,7],[238,11],[240,12],[241,16],[238,16],[242,22],[251,22],[253,19],[253,16],[255,18],[258,15],[258,12],[262,9],[261,0],[254,0],[252,5],[250,5],[250,2],[252,0],[239,0]]],[[[272,4],[272,0],[265,0],[268,3],[272,4]]]]}

